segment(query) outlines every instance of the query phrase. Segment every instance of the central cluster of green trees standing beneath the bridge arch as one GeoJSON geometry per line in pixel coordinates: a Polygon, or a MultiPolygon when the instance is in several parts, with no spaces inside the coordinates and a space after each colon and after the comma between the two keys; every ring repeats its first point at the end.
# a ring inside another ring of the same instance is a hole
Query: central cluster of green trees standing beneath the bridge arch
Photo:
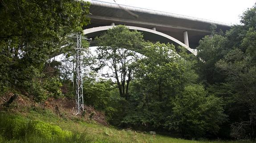
{"type": "MultiPolygon", "coordinates": [[[[182,58],[175,46],[145,42],[141,33],[124,26],[108,30],[97,41],[101,64],[93,69],[99,72],[109,66],[113,73],[104,75],[114,77],[114,84],[85,77],[90,86],[84,84],[85,98],[87,104],[106,112],[111,124],[146,131],[178,131],[187,138],[218,132],[226,120],[222,101],[198,84],[198,75],[192,69],[194,61],[182,58]]],[[[184,52],[182,55],[190,57],[184,52]]]]}

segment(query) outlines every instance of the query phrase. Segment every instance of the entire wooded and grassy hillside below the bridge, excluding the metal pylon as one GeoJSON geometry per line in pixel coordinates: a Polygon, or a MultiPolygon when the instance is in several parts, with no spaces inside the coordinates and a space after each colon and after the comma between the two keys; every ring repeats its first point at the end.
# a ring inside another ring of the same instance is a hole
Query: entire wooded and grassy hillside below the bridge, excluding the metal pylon
{"type": "Polygon", "coordinates": [[[82,0],[0,1],[2,142],[255,141],[255,6],[229,31],[212,25],[197,56],[126,26],[109,29],[93,39],[94,53],[82,53],[85,108],[77,114],[68,36],[88,14],[82,0]]]}

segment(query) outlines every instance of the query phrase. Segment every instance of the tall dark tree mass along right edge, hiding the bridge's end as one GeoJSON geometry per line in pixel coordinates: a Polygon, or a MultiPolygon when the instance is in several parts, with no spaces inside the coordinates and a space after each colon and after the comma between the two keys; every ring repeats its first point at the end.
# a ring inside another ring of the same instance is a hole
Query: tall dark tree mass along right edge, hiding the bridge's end
{"type": "Polygon", "coordinates": [[[207,81],[207,90],[226,103],[229,120],[222,132],[240,139],[255,138],[255,18],[254,6],[243,13],[241,25],[232,26],[223,36],[205,37],[198,47],[200,77],[207,81]]]}

